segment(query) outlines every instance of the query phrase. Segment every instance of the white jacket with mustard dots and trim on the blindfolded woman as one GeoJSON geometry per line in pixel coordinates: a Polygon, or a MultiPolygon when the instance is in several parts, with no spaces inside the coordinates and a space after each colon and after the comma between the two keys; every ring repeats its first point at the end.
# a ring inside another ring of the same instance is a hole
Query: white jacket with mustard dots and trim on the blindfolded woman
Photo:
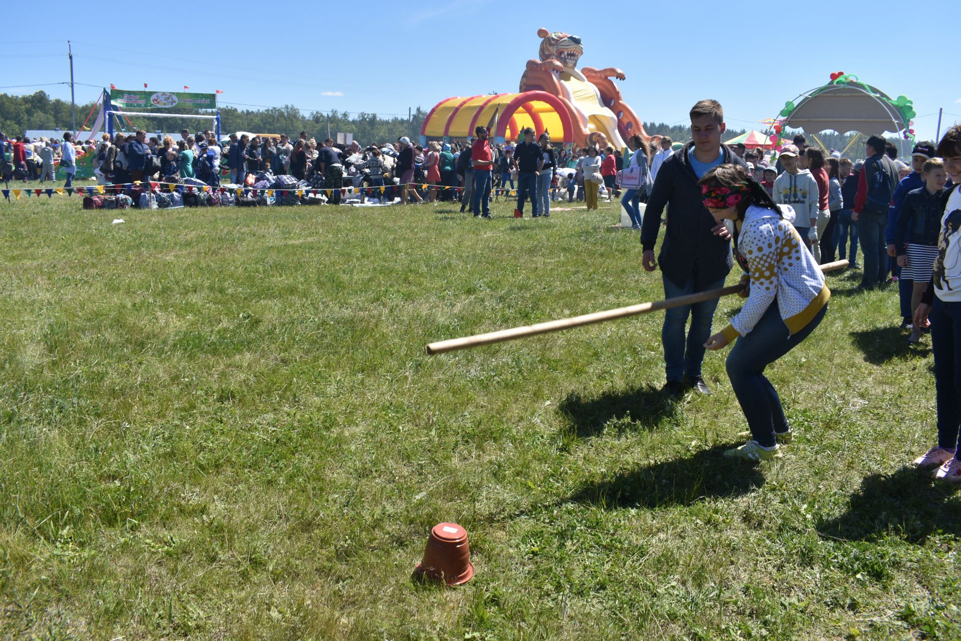
{"type": "Polygon", "coordinates": [[[728,341],[750,333],[775,301],[789,333],[800,332],[830,298],[824,272],[794,225],[776,211],[749,207],[738,225],[737,261],[748,271],[751,291],[721,332],[728,341]]]}

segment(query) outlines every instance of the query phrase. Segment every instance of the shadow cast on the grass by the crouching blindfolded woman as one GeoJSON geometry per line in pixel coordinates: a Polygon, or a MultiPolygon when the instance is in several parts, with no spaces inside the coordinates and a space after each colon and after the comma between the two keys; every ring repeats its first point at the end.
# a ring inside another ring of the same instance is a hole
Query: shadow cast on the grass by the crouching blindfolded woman
{"type": "Polygon", "coordinates": [[[757,463],[725,458],[734,444],[715,445],[687,458],[657,463],[581,488],[568,501],[617,509],[690,505],[704,498],[740,496],[759,488],[757,463]]]}

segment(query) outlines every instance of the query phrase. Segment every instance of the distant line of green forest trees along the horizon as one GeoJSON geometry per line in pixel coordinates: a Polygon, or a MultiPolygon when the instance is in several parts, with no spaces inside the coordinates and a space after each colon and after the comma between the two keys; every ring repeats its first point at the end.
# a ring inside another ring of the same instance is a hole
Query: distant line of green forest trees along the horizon
{"type": "MultiPolygon", "coordinates": [[[[78,127],[84,122],[87,113],[92,108],[93,103],[77,105],[78,127]]],[[[168,112],[176,113],[178,111],[175,109],[168,112]]],[[[183,110],[181,112],[196,111],[183,110]]],[[[400,136],[410,136],[411,139],[416,140],[427,113],[427,111],[418,107],[411,111],[410,118],[407,119],[407,117],[401,116],[383,118],[376,113],[349,113],[347,111],[311,111],[306,113],[292,105],[244,111],[231,106],[220,108],[221,128],[225,135],[229,132],[243,131],[255,134],[286,134],[296,137],[300,132],[306,131],[309,136],[322,140],[327,137],[328,131],[330,131],[334,136],[338,132],[352,134],[355,139],[364,144],[389,142],[400,136]]],[[[92,123],[92,121],[93,117],[91,116],[90,122],[92,123]]],[[[141,128],[147,132],[179,132],[181,129],[194,131],[198,129],[198,122],[198,120],[188,118],[150,118],[145,116],[131,118],[131,123],[135,128],[141,128]]],[[[70,103],[64,100],[51,99],[45,91],[19,96],[0,93],[0,132],[4,132],[8,136],[23,134],[28,129],[60,128],[62,131],[69,131],[70,127],[70,103]]],[[[764,127],[764,125],[758,124],[757,129],[763,131],[764,127]]],[[[685,142],[690,139],[689,130],[683,124],[668,125],[663,122],[646,122],[644,128],[648,134],[671,136],[676,142],[685,142]]],[[[127,129],[132,128],[127,125],[127,129]]],[[[740,136],[745,131],[743,128],[728,127],[725,139],[740,136]]],[[[793,136],[793,133],[787,133],[787,136],[793,136]]],[[[837,149],[838,151],[845,149],[853,136],[834,133],[817,135],[827,149],[837,149]]],[[[813,136],[807,135],[807,139],[809,144],[817,144],[817,140],[813,136]]],[[[889,136],[889,139],[899,147],[902,156],[910,152],[908,141],[897,136],[889,136]]],[[[850,158],[864,158],[864,136],[854,143],[845,155],[850,158]]]]}

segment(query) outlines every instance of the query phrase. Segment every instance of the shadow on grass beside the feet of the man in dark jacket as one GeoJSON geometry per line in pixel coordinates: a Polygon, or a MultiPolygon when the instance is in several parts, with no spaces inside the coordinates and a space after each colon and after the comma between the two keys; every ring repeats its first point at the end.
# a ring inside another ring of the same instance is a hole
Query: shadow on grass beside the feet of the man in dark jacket
{"type": "Polygon", "coordinates": [[[594,436],[611,422],[619,423],[622,430],[628,423],[650,429],[678,410],[677,405],[651,383],[628,390],[606,391],[591,399],[572,392],[557,408],[567,419],[565,435],[579,438],[594,436]]]}

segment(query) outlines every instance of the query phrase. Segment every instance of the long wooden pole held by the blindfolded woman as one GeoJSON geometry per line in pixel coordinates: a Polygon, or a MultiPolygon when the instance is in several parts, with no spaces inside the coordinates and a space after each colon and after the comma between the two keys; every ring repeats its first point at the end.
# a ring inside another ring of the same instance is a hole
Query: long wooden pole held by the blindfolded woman
{"type": "MultiPolygon", "coordinates": [[[[836,269],[844,269],[847,266],[847,260],[836,260],[834,262],[828,262],[821,265],[821,271],[831,272],[836,269]]],[[[490,345],[491,343],[503,343],[507,340],[513,340],[515,338],[526,338],[528,336],[536,336],[540,333],[569,330],[574,327],[593,325],[594,323],[603,323],[604,321],[614,320],[615,318],[626,318],[628,316],[646,314],[650,311],[657,311],[659,309],[680,308],[686,305],[694,305],[695,303],[702,303],[713,298],[721,298],[722,296],[736,294],[739,291],[741,291],[741,285],[732,284],[728,287],[722,287],[721,289],[709,289],[707,291],[700,291],[696,294],[678,296],[676,298],[669,298],[663,301],[653,301],[651,303],[631,305],[627,308],[606,309],[604,311],[596,311],[591,314],[583,314],[581,316],[573,316],[571,318],[560,318],[558,320],[548,321],[546,323],[537,323],[536,325],[515,327],[509,330],[499,330],[497,332],[477,333],[473,336],[464,336],[463,338],[440,340],[435,343],[430,343],[427,346],[426,351],[428,355],[432,356],[434,354],[444,354],[445,352],[456,352],[456,350],[466,350],[470,347],[490,345]]]]}

